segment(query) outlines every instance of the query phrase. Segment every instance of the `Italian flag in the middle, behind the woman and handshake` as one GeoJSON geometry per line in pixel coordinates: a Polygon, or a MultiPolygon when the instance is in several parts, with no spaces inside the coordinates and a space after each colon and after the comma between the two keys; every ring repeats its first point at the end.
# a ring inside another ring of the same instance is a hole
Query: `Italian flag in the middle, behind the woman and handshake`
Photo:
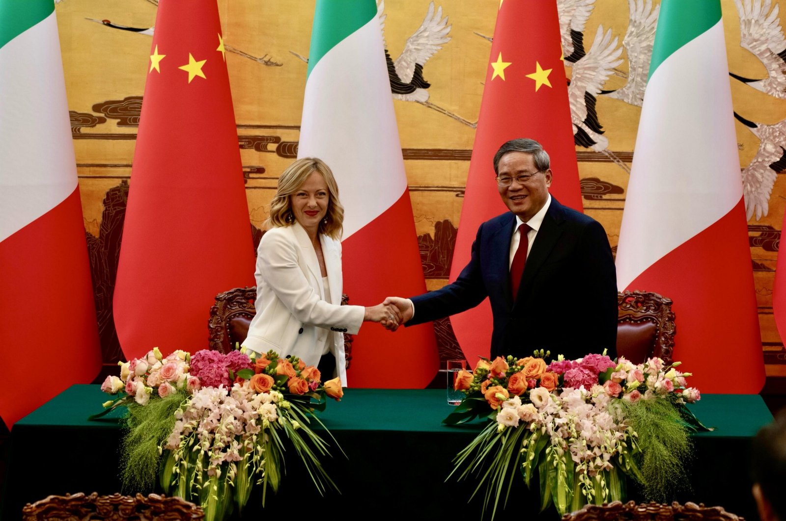
{"type": "MultiPolygon", "coordinates": [[[[374,0],[317,2],[298,156],[321,158],[338,181],[345,210],[343,293],[350,304],[423,293],[374,0]]],[[[351,356],[347,378],[353,387],[422,388],[439,365],[431,324],[396,333],[365,324],[351,356]]]]}

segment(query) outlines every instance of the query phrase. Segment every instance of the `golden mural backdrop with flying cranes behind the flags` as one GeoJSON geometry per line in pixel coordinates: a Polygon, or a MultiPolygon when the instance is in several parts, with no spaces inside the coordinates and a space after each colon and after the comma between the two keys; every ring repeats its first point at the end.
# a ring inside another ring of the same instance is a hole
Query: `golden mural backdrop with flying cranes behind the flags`
{"type": "MultiPolygon", "coordinates": [[[[568,78],[582,65],[574,63],[582,56],[581,43],[583,51],[591,55],[599,30],[610,30],[608,45],[622,50],[622,63],[613,67],[603,92],[594,100],[597,125],[580,122],[580,134],[592,138],[584,141],[590,146],[576,147],[585,212],[604,225],[615,247],[641,112],[633,82],[642,77],[640,50],[647,48],[647,33],[656,23],[659,0],[586,0],[586,8],[575,11],[568,9],[568,4],[575,2],[556,1],[560,22],[564,22],[564,47],[575,47],[572,53],[565,53],[568,78]],[[601,128],[602,133],[597,132],[601,128]]],[[[739,116],[740,164],[744,176],[764,180],[764,186],[749,196],[760,202],[758,212],[752,211],[748,221],[762,348],[767,374],[786,376],[786,352],[773,320],[771,298],[786,211],[786,180],[779,175],[786,169],[786,161],[780,161],[786,147],[786,94],[777,92],[786,93],[786,42],[778,11],[786,2],[769,3],[722,0],[722,9],[729,71],[733,73],[729,82],[739,116]],[[770,74],[769,82],[751,81],[770,74]],[[772,179],[768,197],[766,188],[772,179]],[[766,214],[762,204],[767,206],[766,214]]],[[[119,356],[113,347],[113,327],[107,322],[111,317],[108,303],[156,4],[156,0],[61,0],[56,6],[106,361],[119,356]]],[[[415,96],[399,85],[401,93],[394,94],[421,257],[428,288],[435,289],[446,283],[450,270],[499,2],[443,0],[436,2],[431,14],[429,4],[428,0],[385,0],[380,15],[385,16],[384,39],[392,60],[402,53],[407,38],[427,15],[436,20],[447,16],[450,26],[444,37],[450,39],[424,64],[423,76],[430,84],[425,93],[415,96]]],[[[297,154],[314,0],[219,0],[219,13],[229,51],[226,62],[248,213],[251,223],[261,228],[277,176],[297,154]]],[[[577,75],[573,81],[582,80],[577,75]]],[[[397,90],[395,85],[392,88],[397,90]]],[[[680,165],[664,157],[663,168],[680,165]]],[[[178,187],[171,189],[177,191],[178,187]]],[[[439,331],[438,325],[441,334],[439,331]]]]}

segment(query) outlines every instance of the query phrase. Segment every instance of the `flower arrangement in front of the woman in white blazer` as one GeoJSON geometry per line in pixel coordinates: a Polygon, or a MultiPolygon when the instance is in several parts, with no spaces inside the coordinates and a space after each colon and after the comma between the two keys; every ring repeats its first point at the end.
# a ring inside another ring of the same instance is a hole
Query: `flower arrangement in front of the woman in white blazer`
{"type": "Polygon", "coordinates": [[[124,488],[148,490],[157,475],[167,494],[202,505],[208,521],[225,519],[234,507],[242,512],[255,483],[263,486],[263,505],[268,486],[277,490],[285,439],[321,494],[336,487],[319,461],[328,444],[310,423],[321,425],[314,410],[325,409],[325,396],[341,399],[340,379],[323,384],[316,367],[272,351],[164,358],[155,348],[119,365],[120,376],[101,385],[119,397],[91,418],[127,407],[124,488]]]}

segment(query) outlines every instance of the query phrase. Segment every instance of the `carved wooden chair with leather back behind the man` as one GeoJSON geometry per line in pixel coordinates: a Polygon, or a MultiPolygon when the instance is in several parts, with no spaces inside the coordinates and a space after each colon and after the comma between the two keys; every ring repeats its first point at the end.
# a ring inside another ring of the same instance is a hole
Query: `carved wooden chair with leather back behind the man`
{"type": "Polygon", "coordinates": [[[671,300],[651,291],[623,291],[617,304],[617,355],[633,363],[652,356],[671,363],[677,333],[671,300]]]}

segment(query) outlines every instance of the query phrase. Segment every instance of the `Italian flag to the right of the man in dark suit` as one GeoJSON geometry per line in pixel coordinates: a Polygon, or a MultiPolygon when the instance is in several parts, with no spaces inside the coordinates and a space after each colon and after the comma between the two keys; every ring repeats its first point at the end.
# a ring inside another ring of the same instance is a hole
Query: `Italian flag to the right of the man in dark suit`
{"type": "Polygon", "coordinates": [[[617,282],[674,301],[674,360],[702,392],[764,384],[747,237],[720,2],[663,0],[617,282]]]}

